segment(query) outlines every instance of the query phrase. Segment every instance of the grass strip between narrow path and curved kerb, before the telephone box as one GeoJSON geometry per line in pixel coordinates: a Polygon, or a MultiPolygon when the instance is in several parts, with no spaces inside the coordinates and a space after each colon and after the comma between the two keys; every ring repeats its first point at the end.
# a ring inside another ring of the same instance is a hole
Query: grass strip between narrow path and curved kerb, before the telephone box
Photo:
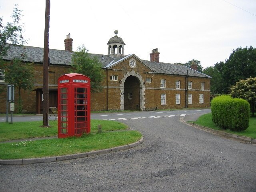
{"type": "Polygon", "coordinates": [[[138,131],[88,134],[81,138],[45,139],[0,144],[0,159],[40,158],[89,152],[138,141],[138,131]]]}

